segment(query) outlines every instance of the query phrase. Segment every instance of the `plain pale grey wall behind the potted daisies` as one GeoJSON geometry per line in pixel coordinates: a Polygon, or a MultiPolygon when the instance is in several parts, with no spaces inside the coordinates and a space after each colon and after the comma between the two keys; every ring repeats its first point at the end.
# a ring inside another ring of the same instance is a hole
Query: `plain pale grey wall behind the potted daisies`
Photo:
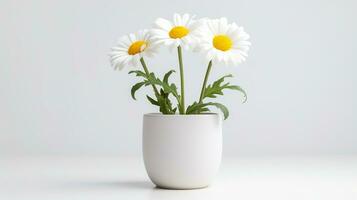
{"type": "MultiPolygon", "coordinates": [[[[142,115],[130,97],[136,78],[113,71],[116,39],[174,12],[226,16],[251,35],[248,61],[214,66],[248,92],[219,100],[225,155],[357,153],[357,25],[353,0],[0,1],[0,153],[141,155],[142,115]]],[[[177,68],[162,48],[159,74],[177,68]]],[[[198,98],[206,63],[184,52],[187,101],[198,98]]],[[[178,74],[176,74],[176,77],[178,74]]],[[[147,91],[150,91],[147,88],[147,91]]]]}

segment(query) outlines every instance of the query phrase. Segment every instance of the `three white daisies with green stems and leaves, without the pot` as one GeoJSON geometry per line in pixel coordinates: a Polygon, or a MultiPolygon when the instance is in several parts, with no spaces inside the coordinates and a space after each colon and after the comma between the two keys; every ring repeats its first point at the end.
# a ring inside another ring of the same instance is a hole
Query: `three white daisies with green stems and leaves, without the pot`
{"type": "Polygon", "coordinates": [[[173,21],[158,18],[150,30],[123,36],[117,46],[112,48],[110,61],[114,69],[123,69],[126,66],[141,66],[143,70],[133,70],[141,78],[131,89],[131,96],[135,100],[135,93],[143,86],[152,87],[154,96],[146,95],[147,100],[159,107],[162,114],[201,114],[209,112],[210,107],[217,107],[227,119],[229,112],[226,106],[209,99],[223,95],[223,90],[236,90],[244,95],[246,92],[238,85],[226,82],[232,75],[225,75],[212,84],[207,85],[209,74],[213,65],[223,63],[237,65],[245,61],[250,47],[249,35],[243,27],[236,23],[228,23],[226,18],[195,20],[189,14],[174,14],[173,21]],[[160,46],[177,49],[180,72],[180,91],[174,83],[169,82],[169,77],[175,70],[169,70],[162,79],[151,72],[144,60],[156,53],[160,46]],[[182,50],[193,50],[205,56],[208,66],[203,78],[202,89],[197,101],[186,107],[184,87],[184,65],[182,50]],[[174,105],[173,99],[176,101],[174,105]]]}

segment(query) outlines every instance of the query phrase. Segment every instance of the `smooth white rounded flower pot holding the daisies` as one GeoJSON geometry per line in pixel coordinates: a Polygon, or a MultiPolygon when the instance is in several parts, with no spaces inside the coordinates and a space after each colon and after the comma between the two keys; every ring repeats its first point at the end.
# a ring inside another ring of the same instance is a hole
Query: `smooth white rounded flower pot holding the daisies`
{"type": "Polygon", "coordinates": [[[158,187],[207,187],[222,155],[220,115],[145,114],[143,155],[146,171],[158,187]]]}

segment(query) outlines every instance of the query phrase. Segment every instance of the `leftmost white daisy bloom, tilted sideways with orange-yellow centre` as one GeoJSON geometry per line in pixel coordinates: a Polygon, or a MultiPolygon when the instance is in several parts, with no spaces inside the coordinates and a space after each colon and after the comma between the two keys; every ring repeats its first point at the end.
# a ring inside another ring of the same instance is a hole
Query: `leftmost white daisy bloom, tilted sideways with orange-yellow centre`
{"type": "Polygon", "coordinates": [[[118,44],[112,47],[110,62],[114,69],[122,70],[124,67],[136,67],[140,65],[140,59],[144,56],[152,56],[156,50],[148,30],[125,35],[118,40],[118,44]]]}

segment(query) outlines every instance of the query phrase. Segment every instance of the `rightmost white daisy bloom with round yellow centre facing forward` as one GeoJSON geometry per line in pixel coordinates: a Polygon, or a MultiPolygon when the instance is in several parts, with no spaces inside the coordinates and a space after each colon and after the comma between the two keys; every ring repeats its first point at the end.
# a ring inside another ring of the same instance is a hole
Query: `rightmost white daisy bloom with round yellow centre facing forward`
{"type": "Polygon", "coordinates": [[[226,18],[205,20],[206,26],[200,31],[198,50],[213,63],[239,64],[248,56],[249,35],[243,27],[228,24],[226,18]]]}

